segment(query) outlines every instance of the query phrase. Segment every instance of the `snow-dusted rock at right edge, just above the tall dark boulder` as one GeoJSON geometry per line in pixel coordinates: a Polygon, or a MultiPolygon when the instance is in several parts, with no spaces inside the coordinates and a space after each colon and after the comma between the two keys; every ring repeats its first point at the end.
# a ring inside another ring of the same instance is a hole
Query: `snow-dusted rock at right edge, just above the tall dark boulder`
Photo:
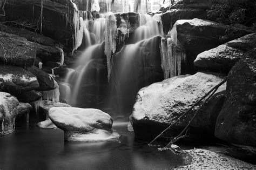
{"type": "Polygon", "coordinates": [[[256,33],[200,53],[194,60],[194,65],[208,70],[228,72],[248,50],[254,47],[256,47],[256,33]]]}

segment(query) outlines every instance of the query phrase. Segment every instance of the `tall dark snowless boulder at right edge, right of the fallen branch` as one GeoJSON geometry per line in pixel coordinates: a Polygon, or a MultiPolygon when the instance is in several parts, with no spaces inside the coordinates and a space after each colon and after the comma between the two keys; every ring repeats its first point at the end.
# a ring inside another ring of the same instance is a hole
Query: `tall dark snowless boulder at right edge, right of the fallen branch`
{"type": "Polygon", "coordinates": [[[215,128],[225,141],[256,146],[256,49],[242,56],[227,79],[227,95],[215,128]]]}

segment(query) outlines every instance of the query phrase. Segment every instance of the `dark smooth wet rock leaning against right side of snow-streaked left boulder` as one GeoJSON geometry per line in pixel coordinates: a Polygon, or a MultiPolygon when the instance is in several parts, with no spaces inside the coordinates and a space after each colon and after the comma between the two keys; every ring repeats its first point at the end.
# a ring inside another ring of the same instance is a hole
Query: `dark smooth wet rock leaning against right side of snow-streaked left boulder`
{"type": "Polygon", "coordinates": [[[33,73],[38,80],[39,91],[53,90],[56,88],[54,78],[36,66],[27,67],[26,70],[33,73]]]}

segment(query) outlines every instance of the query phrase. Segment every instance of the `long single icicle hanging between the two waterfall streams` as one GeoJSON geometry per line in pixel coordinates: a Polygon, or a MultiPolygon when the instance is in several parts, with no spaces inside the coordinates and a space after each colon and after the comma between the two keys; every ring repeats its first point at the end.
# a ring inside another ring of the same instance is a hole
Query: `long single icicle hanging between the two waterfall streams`
{"type": "Polygon", "coordinates": [[[116,52],[117,40],[117,19],[113,13],[107,13],[106,16],[106,29],[105,29],[105,55],[107,57],[107,77],[110,79],[111,74],[111,58],[116,52]]]}

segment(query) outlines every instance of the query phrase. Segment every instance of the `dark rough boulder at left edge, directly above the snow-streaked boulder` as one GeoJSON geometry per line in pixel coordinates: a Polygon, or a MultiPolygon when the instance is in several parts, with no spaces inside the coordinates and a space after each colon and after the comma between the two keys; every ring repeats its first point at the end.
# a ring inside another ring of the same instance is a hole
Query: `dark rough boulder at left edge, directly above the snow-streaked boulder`
{"type": "Polygon", "coordinates": [[[25,38],[0,31],[0,62],[17,66],[31,66],[36,49],[25,38]]]}

